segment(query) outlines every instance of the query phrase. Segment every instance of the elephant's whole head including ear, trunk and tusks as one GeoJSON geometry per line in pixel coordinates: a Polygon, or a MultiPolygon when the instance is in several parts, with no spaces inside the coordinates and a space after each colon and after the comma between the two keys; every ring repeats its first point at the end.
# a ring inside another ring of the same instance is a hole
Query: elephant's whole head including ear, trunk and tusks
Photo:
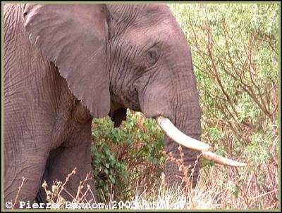
{"type": "MultiPolygon", "coordinates": [[[[125,120],[127,108],[156,118],[166,134],[166,153],[179,159],[178,146],[183,146],[194,186],[201,152],[216,162],[226,160],[200,142],[191,51],[168,6],[30,4],[23,11],[30,41],[59,68],[90,115],[110,115],[115,127],[125,120]]],[[[170,184],[182,181],[176,162],[166,162],[166,177],[170,184]]]]}

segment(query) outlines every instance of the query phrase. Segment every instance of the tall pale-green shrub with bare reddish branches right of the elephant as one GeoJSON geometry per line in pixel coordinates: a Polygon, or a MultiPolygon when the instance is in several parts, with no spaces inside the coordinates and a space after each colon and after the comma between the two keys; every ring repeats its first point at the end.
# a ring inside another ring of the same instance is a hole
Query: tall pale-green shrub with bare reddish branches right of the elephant
{"type": "Polygon", "coordinates": [[[248,164],[237,171],[226,168],[223,179],[236,198],[228,206],[237,208],[241,200],[246,208],[277,208],[278,4],[173,4],[171,9],[192,50],[202,141],[219,155],[248,164]],[[254,195],[259,199],[250,202],[254,195]]]}

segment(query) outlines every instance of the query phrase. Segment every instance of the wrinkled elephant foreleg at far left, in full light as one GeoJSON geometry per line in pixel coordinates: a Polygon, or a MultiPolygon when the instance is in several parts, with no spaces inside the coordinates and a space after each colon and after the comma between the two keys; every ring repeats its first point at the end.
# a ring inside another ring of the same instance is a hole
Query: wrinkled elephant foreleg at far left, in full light
{"type": "Polygon", "coordinates": [[[48,151],[44,149],[37,150],[35,153],[27,147],[20,151],[16,148],[5,147],[4,202],[6,208],[11,209],[11,203],[14,209],[25,208],[28,202],[30,204],[34,202],[44,174],[47,156],[48,151]]]}

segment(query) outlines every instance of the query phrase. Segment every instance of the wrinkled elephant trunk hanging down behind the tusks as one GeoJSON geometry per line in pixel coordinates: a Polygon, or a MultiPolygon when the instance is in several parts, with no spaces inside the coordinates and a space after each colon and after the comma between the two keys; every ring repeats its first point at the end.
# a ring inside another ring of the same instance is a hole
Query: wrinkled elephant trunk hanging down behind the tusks
{"type": "MultiPolygon", "coordinates": [[[[175,120],[172,122],[183,134],[200,142],[201,112],[197,91],[192,93],[190,91],[186,94],[193,98],[187,101],[185,100],[187,97],[183,95],[178,96],[178,108],[176,108],[175,120]]],[[[200,169],[198,159],[198,156],[201,154],[200,149],[195,150],[191,147],[181,146],[168,136],[165,137],[164,143],[167,155],[165,174],[168,179],[168,185],[173,186],[176,183],[186,186],[189,182],[190,186],[195,187],[200,169]]]]}

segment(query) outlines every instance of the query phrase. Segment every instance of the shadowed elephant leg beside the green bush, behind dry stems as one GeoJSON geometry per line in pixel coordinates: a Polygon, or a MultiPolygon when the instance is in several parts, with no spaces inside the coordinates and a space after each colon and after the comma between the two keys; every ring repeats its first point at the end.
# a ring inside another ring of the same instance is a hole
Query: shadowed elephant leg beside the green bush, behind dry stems
{"type": "MultiPolygon", "coordinates": [[[[46,164],[46,169],[42,178],[48,184],[49,190],[53,185],[53,181],[61,181],[64,183],[68,174],[76,168],[75,174],[72,174],[66,183],[66,191],[62,191],[61,195],[66,201],[73,201],[78,192],[80,181],[85,180],[87,174],[90,172],[92,178],[90,143],[82,144],[80,146],[64,147],[61,146],[56,150],[51,150],[46,164]]],[[[91,191],[87,192],[85,197],[87,201],[92,200],[92,203],[97,203],[97,197],[94,189],[94,181],[90,179],[86,181],[90,185],[91,191]]],[[[82,188],[82,193],[87,190],[87,185],[82,188]]],[[[82,194],[80,194],[81,198],[82,194]]],[[[37,202],[46,202],[47,195],[44,188],[39,188],[37,193],[37,202]]],[[[86,202],[82,200],[81,202],[86,202]]]]}

